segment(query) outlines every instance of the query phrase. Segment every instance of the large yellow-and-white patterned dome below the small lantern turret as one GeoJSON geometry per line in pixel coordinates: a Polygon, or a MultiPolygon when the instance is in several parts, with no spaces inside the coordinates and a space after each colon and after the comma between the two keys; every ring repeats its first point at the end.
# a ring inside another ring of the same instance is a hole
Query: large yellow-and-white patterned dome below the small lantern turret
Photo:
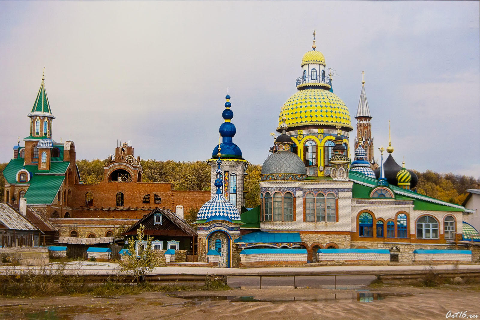
{"type": "Polygon", "coordinates": [[[289,128],[323,124],[353,130],[345,103],[336,94],[324,89],[304,89],[288,98],[280,111],[278,128],[283,116],[287,118],[289,128]]]}

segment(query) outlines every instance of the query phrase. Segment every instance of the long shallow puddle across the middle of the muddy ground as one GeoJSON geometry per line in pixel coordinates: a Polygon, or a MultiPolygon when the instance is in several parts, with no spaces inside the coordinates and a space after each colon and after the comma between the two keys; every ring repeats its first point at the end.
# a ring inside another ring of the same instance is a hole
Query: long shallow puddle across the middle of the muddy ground
{"type": "Polygon", "coordinates": [[[349,293],[332,293],[321,296],[287,296],[287,297],[268,297],[257,299],[253,295],[235,296],[235,295],[171,295],[177,298],[190,300],[182,303],[184,307],[197,306],[205,301],[229,301],[229,302],[271,302],[284,303],[292,301],[308,301],[308,302],[326,302],[332,300],[350,300],[358,302],[373,302],[375,300],[383,300],[388,297],[404,297],[413,294],[404,293],[373,293],[373,292],[349,292],[349,293]]]}

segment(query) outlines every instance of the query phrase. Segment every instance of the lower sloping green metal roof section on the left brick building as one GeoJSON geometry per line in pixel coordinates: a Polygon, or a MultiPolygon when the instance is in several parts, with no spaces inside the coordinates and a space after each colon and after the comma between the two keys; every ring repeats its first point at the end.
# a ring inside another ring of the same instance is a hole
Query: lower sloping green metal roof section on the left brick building
{"type": "Polygon", "coordinates": [[[63,179],[63,175],[34,175],[25,193],[27,204],[51,204],[57,197],[63,179]]]}

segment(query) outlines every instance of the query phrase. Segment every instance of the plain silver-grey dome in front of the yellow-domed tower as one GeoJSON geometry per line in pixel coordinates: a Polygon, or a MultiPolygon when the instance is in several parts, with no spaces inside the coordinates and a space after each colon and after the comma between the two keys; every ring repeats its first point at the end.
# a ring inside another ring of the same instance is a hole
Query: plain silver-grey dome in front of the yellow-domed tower
{"type": "Polygon", "coordinates": [[[265,159],[260,174],[307,174],[305,164],[293,152],[278,151],[265,159]]]}

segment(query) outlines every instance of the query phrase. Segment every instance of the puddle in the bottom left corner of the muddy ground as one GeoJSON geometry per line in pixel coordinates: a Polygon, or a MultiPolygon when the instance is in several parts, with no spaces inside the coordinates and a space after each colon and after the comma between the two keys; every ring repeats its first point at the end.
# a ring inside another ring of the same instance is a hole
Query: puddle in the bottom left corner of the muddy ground
{"type": "MultiPolygon", "coordinates": [[[[28,320],[91,320],[102,308],[51,308],[42,311],[23,311],[22,319],[28,320]]],[[[0,319],[16,319],[22,312],[18,309],[1,310],[0,319]]]]}

